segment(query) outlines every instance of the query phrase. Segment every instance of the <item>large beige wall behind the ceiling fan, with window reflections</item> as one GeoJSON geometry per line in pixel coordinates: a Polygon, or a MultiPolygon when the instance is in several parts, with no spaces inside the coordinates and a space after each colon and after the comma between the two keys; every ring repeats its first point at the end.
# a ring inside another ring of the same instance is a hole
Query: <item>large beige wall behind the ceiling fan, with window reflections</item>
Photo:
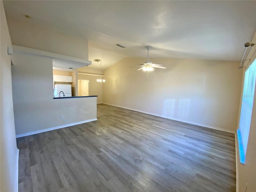
{"type": "Polygon", "coordinates": [[[150,59],[166,69],[149,76],[146,58],[124,58],[104,70],[103,103],[171,119],[235,131],[242,71],[239,62],[150,59]]]}

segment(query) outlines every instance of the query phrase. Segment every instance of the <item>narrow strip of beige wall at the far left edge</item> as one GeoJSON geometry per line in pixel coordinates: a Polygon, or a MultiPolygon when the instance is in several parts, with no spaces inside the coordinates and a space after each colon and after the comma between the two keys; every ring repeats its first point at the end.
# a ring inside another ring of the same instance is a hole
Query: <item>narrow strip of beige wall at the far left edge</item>
{"type": "Polygon", "coordinates": [[[7,46],[12,46],[3,2],[1,7],[1,52],[0,52],[0,191],[14,192],[17,190],[17,156],[18,149],[15,138],[14,114],[12,104],[11,57],[7,54],[7,46]]]}

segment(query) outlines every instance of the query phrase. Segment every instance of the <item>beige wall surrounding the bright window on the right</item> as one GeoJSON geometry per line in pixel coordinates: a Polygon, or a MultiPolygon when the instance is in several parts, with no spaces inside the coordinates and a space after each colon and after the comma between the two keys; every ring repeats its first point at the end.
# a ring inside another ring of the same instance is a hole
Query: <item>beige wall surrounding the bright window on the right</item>
{"type": "MultiPolygon", "coordinates": [[[[256,42],[256,32],[254,34],[254,38],[251,42],[256,42]]],[[[255,46],[250,52],[248,58],[252,57],[252,54],[256,50],[255,46]]],[[[251,59],[253,62],[256,59],[256,55],[251,59]]],[[[252,62],[250,64],[252,64],[252,62]]],[[[247,68],[250,66],[247,66],[247,68]]],[[[247,69],[246,68],[246,69],[247,69]]],[[[245,70],[243,70],[245,73],[245,70]]],[[[242,86],[243,90],[243,86],[242,86]]],[[[241,96],[242,96],[241,90],[241,96]]],[[[256,90],[254,92],[256,94],[256,90]]],[[[241,106],[241,102],[240,102],[241,106]]],[[[240,113],[238,114],[240,118],[240,113]]],[[[238,128],[239,128],[239,121],[238,121],[238,128]]],[[[237,145],[237,151],[238,145],[237,145]]],[[[247,191],[246,192],[256,192],[256,100],[254,96],[254,104],[252,108],[252,119],[250,125],[250,132],[249,132],[249,139],[248,139],[248,146],[246,150],[246,157],[245,157],[245,164],[240,164],[239,154],[237,154],[237,162],[238,162],[238,173],[239,173],[239,186],[240,192],[246,191],[246,183],[247,183],[247,191]]]]}

